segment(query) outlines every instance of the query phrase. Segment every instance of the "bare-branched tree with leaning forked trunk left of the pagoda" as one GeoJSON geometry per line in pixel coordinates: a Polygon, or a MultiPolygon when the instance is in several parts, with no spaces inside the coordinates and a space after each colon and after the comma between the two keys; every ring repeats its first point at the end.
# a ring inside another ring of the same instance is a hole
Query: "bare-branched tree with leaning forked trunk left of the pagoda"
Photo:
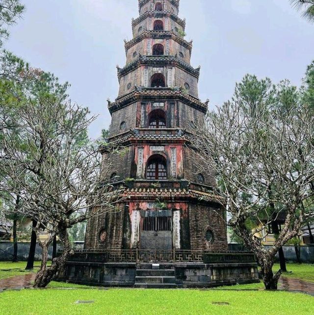
{"type": "Polygon", "coordinates": [[[73,253],[68,229],[104,211],[117,211],[123,196],[102,180],[109,163],[102,164],[99,143],[87,137],[95,119],[88,118],[88,109],[40,97],[12,111],[19,132],[0,128],[1,164],[8,179],[2,189],[16,195],[19,187],[18,211],[37,222],[34,230],[43,254],[34,286],[45,287],[73,253]],[[39,238],[43,228],[50,232],[45,241],[39,238]],[[56,235],[63,252],[47,267],[48,247],[56,235]]]}

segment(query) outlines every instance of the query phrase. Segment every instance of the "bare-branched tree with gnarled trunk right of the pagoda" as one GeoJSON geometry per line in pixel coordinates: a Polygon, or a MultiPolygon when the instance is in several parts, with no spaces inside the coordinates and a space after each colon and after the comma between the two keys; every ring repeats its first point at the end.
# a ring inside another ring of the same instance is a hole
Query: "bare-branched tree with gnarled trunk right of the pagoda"
{"type": "Polygon", "coordinates": [[[247,76],[231,102],[209,113],[194,143],[203,172],[217,175],[230,227],[257,256],[266,289],[276,289],[282,271],[272,272],[275,255],[314,217],[313,207],[304,207],[314,197],[313,111],[287,82],[275,87],[247,76]],[[285,223],[266,250],[267,226],[281,214],[285,223]]]}

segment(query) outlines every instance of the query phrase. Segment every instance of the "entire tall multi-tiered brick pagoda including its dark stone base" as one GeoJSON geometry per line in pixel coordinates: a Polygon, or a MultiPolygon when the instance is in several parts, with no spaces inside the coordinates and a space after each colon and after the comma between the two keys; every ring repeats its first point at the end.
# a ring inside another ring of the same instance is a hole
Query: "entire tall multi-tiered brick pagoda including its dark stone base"
{"type": "Polygon", "coordinates": [[[189,148],[208,102],[198,98],[200,68],[190,65],[192,42],[184,39],[179,2],[139,0],[126,66],[118,67],[119,95],[108,101],[108,143],[125,150],[103,151],[104,163],[111,162],[104,181],[124,185],[126,199],[120,211],[88,221],[84,251],[69,262],[67,280],[145,286],[165,279],[184,286],[256,280],[252,255],[241,256],[241,266],[226,264],[238,260],[223,253],[226,213],[210,192],[213,174],[199,171],[189,148]],[[224,264],[209,265],[217,261],[224,264]],[[164,263],[160,268],[169,270],[157,275],[165,278],[142,272],[150,263],[164,263]]]}

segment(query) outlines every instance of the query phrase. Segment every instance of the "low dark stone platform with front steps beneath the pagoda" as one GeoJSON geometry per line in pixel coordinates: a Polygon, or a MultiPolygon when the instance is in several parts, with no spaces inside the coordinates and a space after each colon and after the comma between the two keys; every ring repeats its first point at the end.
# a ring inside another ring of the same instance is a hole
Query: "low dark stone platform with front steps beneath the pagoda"
{"type": "Polygon", "coordinates": [[[68,262],[57,281],[90,286],[188,288],[259,282],[256,263],[68,262]]]}

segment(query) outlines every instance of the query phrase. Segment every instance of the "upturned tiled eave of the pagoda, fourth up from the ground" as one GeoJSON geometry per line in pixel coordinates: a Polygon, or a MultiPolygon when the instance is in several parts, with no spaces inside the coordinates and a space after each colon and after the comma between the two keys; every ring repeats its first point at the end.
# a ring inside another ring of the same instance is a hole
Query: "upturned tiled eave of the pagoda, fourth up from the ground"
{"type": "MultiPolygon", "coordinates": [[[[192,75],[197,77],[197,79],[200,76],[201,66],[199,66],[197,68],[193,68],[190,64],[188,64],[187,62],[178,58],[177,56],[174,56],[174,55],[160,55],[160,56],[140,55],[137,59],[128,63],[123,68],[119,68],[117,66],[119,81],[120,81],[120,78],[122,75],[125,75],[128,72],[130,72],[131,70],[137,68],[138,66],[140,66],[140,64],[144,63],[145,61],[150,61],[150,60],[154,61],[154,60],[159,60],[159,59],[161,59],[160,60],[161,64],[163,64],[165,61],[168,61],[168,62],[172,61],[172,63],[177,63],[178,65],[181,65],[185,70],[190,71],[192,75]]],[[[167,65],[167,64],[169,64],[169,63],[165,63],[165,65],[167,65]]]]}

